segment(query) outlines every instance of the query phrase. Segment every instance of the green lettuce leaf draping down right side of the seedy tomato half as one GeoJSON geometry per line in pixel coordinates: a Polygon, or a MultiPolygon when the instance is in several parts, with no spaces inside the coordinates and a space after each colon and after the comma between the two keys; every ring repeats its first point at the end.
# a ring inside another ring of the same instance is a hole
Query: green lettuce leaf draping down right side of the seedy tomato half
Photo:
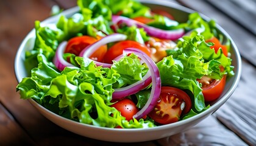
{"type": "Polygon", "coordinates": [[[207,71],[205,69],[207,64],[196,60],[194,57],[185,58],[184,55],[180,55],[179,58],[182,60],[169,56],[157,63],[162,86],[173,86],[192,92],[194,108],[200,112],[205,108],[205,104],[204,97],[199,96],[202,89],[196,78],[204,75],[207,71]]]}

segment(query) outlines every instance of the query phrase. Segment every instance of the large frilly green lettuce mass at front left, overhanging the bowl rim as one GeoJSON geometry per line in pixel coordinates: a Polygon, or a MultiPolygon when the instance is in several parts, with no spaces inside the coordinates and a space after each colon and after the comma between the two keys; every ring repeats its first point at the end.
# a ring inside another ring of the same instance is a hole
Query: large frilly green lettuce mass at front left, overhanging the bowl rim
{"type": "Polygon", "coordinates": [[[46,64],[43,54],[38,58],[38,68],[32,69],[31,77],[24,78],[17,86],[22,99],[35,99],[60,116],[100,127],[154,126],[144,120],[128,122],[117,109],[109,106],[114,91],[112,85],[120,77],[115,69],[105,69],[76,57],[80,68],[65,68],[59,73],[46,64]]]}

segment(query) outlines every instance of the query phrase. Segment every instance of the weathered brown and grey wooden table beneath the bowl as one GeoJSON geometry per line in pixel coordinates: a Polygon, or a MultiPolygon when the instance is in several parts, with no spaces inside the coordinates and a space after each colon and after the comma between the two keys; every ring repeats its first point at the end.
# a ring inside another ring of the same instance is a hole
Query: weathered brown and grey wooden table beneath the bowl
{"type": "MultiPolygon", "coordinates": [[[[255,36],[243,31],[213,7],[207,7],[205,2],[179,2],[215,18],[230,33],[241,52],[243,47],[255,49],[255,36]],[[251,46],[241,38],[251,40],[251,46]]],[[[58,127],[38,113],[27,100],[21,100],[16,92],[18,83],[13,69],[16,50],[24,36],[33,29],[34,21],[48,18],[51,7],[56,4],[68,9],[75,6],[76,1],[0,0],[0,145],[119,145],[79,136],[58,127]]],[[[255,82],[255,64],[243,58],[238,88],[212,116],[174,136],[122,145],[256,145],[255,82]]]]}

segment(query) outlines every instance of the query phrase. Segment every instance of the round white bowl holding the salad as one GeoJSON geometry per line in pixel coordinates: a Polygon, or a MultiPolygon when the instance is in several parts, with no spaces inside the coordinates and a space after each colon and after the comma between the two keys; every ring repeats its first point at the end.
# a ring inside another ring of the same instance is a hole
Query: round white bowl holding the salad
{"type": "MultiPolygon", "coordinates": [[[[151,7],[152,10],[154,9],[161,9],[165,10],[166,12],[172,13],[177,21],[185,22],[188,19],[188,14],[193,13],[193,10],[187,9],[182,7],[178,4],[173,4],[168,1],[141,1],[143,4],[148,5],[151,7]]],[[[65,10],[63,15],[71,16],[79,10],[78,7],[74,7],[72,9],[65,10]]],[[[203,16],[204,19],[208,19],[203,16]]],[[[51,24],[56,23],[58,20],[58,16],[52,16],[44,20],[41,24],[51,24]]],[[[230,38],[225,30],[223,30],[220,26],[217,25],[217,28],[223,33],[227,38],[231,40],[232,48],[231,58],[232,58],[232,65],[235,66],[234,72],[235,75],[229,80],[227,80],[224,92],[221,95],[221,98],[216,100],[215,102],[211,103],[211,107],[204,111],[201,114],[197,114],[196,116],[190,117],[189,119],[185,119],[176,123],[170,123],[168,125],[162,125],[159,127],[153,128],[138,128],[138,129],[120,129],[120,128],[104,128],[104,127],[96,127],[93,125],[87,125],[84,123],[74,122],[73,120],[65,119],[57,114],[52,113],[48,109],[44,108],[43,106],[39,105],[32,99],[29,99],[30,103],[35,106],[35,108],[40,111],[43,116],[54,122],[55,124],[59,125],[66,130],[72,131],[73,133],[80,134],[85,137],[90,137],[93,139],[98,139],[102,141],[111,141],[111,142],[142,142],[142,141],[151,141],[155,139],[160,139],[163,137],[168,137],[173,134],[180,133],[182,131],[187,130],[188,128],[193,127],[197,123],[201,122],[205,117],[210,116],[214,113],[219,107],[221,107],[227,99],[232,95],[235,91],[236,86],[240,80],[241,75],[241,57],[238,52],[238,49],[235,46],[235,43],[230,38]]],[[[32,49],[35,40],[35,30],[29,32],[29,34],[24,38],[23,42],[21,43],[18,52],[16,53],[15,58],[15,74],[18,83],[24,77],[27,77],[27,72],[24,66],[24,54],[27,49],[32,49]]]]}

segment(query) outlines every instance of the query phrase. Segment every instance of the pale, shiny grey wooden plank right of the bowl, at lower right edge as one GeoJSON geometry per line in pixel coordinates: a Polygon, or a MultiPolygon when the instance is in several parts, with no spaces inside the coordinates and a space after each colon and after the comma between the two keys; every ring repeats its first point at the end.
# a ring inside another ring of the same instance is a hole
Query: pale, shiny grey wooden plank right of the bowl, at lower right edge
{"type": "Polygon", "coordinates": [[[256,68],[243,61],[242,76],[232,97],[216,111],[216,117],[247,144],[256,144],[256,68]]]}

